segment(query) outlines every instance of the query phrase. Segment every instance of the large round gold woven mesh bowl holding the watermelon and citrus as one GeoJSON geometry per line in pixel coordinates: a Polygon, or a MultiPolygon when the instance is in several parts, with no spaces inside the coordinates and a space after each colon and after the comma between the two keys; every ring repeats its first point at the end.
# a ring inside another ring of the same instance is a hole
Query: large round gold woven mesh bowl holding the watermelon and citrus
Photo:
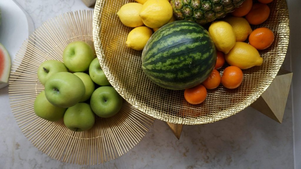
{"type": "MultiPolygon", "coordinates": [[[[176,124],[205,124],[227,118],[240,112],[265,91],[283,63],[289,41],[289,17],[285,0],[268,4],[269,19],[257,27],[268,27],[275,34],[271,47],[260,51],[262,66],[244,70],[239,88],[229,90],[222,85],[208,90],[206,100],[191,105],[184,99],[184,91],[159,87],[144,75],[141,68],[141,51],[127,48],[128,33],[116,12],[134,0],[98,0],[93,19],[93,38],[100,64],[113,87],[142,112],[154,118],[176,124]]],[[[223,68],[224,69],[224,68],[223,68]]],[[[223,70],[222,69],[222,70],[223,70]]]]}

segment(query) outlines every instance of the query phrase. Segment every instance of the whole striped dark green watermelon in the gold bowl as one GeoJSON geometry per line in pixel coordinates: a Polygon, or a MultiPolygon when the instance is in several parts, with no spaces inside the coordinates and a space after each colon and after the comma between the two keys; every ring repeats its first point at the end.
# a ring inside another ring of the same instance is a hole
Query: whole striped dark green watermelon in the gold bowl
{"type": "Polygon", "coordinates": [[[172,90],[192,88],[213,71],[216,48],[208,31],[181,20],[158,29],[142,51],[142,70],[155,84],[172,90]]]}

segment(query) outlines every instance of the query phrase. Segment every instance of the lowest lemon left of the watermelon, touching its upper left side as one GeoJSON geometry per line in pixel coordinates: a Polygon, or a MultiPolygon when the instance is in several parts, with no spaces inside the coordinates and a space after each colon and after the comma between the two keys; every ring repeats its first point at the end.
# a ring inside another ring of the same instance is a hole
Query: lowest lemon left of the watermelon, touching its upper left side
{"type": "Polygon", "coordinates": [[[152,34],[153,32],[149,27],[139,26],[134,28],[131,32],[129,32],[126,40],[126,46],[128,48],[141,51],[152,34]]]}

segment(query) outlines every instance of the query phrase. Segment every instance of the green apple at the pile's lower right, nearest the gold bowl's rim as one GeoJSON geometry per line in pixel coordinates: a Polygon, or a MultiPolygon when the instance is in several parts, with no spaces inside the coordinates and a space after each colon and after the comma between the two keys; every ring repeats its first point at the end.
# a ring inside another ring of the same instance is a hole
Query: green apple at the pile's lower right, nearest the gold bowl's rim
{"type": "Polygon", "coordinates": [[[107,118],[119,112],[122,101],[122,97],[112,86],[101,86],[93,92],[90,105],[96,115],[107,118]]]}

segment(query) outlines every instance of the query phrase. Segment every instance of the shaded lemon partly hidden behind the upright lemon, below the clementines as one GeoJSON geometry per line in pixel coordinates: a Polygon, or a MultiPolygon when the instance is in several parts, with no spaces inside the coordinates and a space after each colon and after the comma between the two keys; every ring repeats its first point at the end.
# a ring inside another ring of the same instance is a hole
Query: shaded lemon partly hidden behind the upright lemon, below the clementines
{"type": "Polygon", "coordinates": [[[252,32],[249,22],[243,17],[227,17],[224,21],[232,26],[237,42],[245,41],[252,32]]]}

